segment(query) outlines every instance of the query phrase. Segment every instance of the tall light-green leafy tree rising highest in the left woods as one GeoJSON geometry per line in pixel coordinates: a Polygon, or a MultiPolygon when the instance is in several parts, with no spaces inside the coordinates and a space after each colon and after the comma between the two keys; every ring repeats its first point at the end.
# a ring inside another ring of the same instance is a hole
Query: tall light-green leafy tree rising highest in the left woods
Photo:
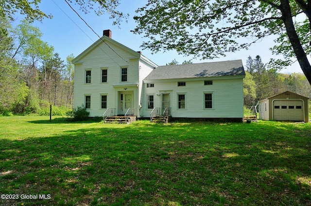
{"type": "Polygon", "coordinates": [[[29,95],[24,106],[18,110],[23,112],[28,108],[30,111],[36,111],[40,106],[39,91],[42,83],[39,63],[51,57],[54,48],[42,41],[39,28],[32,26],[26,20],[22,20],[21,24],[17,25],[12,32],[12,37],[16,39],[12,58],[19,60],[21,72],[19,78],[29,87],[29,95]]]}

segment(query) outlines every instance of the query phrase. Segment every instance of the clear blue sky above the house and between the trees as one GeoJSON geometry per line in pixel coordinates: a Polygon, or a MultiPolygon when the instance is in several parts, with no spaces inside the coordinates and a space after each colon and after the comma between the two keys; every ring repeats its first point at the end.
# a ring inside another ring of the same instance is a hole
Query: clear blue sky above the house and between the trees
{"type": "MultiPolygon", "coordinates": [[[[172,62],[174,59],[179,63],[182,63],[185,60],[191,60],[193,57],[178,55],[175,51],[151,54],[150,50],[142,50],[142,48],[140,48],[141,43],[146,39],[144,39],[143,36],[133,34],[130,31],[134,30],[137,25],[133,20],[133,16],[136,14],[135,10],[144,6],[146,2],[147,0],[121,0],[119,11],[128,13],[130,16],[127,19],[127,23],[125,21],[121,23],[120,28],[112,25],[112,20],[109,19],[108,15],[97,16],[93,14],[93,11],[84,14],[77,6],[74,6],[73,4],[71,5],[99,36],[103,35],[103,30],[110,29],[112,31],[112,39],[132,48],[133,50],[142,51],[144,56],[158,65],[165,65],[166,63],[172,62]]],[[[46,14],[52,14],[53,18],[44,19],[42,22],[35,22],[33,25],[38,27],[43,33],[42,40],[53,46],[54,52],[59,53],[63,60],[66,60],[66,57],[71,53],[74,56],[79,55],[87,47],[98,40],[98,36],[86,26],[86,24],[74,13],[74,11],[72,11],[64,0],[42,0],[39,4],[39,8],[46,14]]],[[[18,19],[17,17],[17,21],[18,20],[21,19],[18,19]]],[[[269,50],[269,48],[274,45],[273,40],[273,37],[268,37],[261,42],[256,43],[248,50],[227,53],[226,57],[220,57],[218,59],[194,59],[192,62],[200,63],[242,59],[245,67],[249,55],[252,58],[259,55],[263,63],[268,63],[270,58],[276,58],[269,50]]],[[[243,39],[241,39],[241,41],[243,41],[243,39]]],[[[298,63],[294,63],[294,65],[281,70],[281,72],[302,73],[298,63]]]]}

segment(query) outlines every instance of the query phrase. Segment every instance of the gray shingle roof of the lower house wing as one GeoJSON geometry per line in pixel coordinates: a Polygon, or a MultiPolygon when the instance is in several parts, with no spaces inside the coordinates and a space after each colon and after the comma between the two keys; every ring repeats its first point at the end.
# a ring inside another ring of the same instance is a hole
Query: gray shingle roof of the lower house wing
{"type": "Polygon", "coordinates": [[[156,67],[145,80],[245,75],[242,60],[156,67]]]}

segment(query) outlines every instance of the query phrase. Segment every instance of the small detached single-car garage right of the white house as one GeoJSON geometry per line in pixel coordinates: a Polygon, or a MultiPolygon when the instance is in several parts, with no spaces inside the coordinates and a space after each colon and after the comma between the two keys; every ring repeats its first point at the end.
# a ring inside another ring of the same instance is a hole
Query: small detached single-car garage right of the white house
{"type": "Polygon", "coordinates": [[[308,109],[308,97],[287,91],[259,101],[259,119],[308,122],[308,109]]]}

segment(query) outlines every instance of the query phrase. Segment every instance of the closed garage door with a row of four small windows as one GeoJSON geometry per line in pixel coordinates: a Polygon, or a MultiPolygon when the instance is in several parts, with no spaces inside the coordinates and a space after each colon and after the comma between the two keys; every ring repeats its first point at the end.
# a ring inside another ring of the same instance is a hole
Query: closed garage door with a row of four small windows
{"type": "Polygon", "coordinates": [[[285,121],[303,121],[302,100],[274,100],[273,119],[285,121]]]}

